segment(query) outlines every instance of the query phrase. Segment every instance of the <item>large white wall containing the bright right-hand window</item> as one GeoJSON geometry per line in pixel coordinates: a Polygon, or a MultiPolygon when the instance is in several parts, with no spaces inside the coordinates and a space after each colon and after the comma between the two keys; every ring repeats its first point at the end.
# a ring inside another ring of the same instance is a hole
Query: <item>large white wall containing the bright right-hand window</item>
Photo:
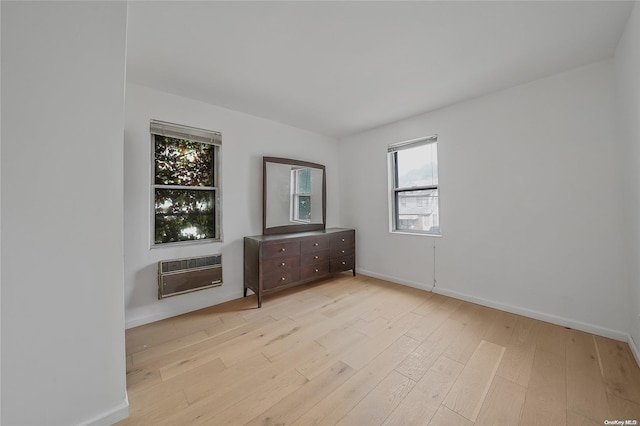
{"type": "Polygon", "coordinates": [[[612,61],[340,145],[362,273],[626,340],[612,61]],[[441,238],[388,232],[386,147],[439,135],[441,238]]]}

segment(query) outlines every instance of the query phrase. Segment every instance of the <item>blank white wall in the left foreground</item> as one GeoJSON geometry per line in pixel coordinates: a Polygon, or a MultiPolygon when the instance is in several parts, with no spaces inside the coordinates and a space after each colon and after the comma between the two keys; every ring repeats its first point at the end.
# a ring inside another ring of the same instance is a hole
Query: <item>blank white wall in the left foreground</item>
{"type": "Polygon", "coordinates": [[[2,423],[126,416],[126,4],[2,2],[2,423]]]}

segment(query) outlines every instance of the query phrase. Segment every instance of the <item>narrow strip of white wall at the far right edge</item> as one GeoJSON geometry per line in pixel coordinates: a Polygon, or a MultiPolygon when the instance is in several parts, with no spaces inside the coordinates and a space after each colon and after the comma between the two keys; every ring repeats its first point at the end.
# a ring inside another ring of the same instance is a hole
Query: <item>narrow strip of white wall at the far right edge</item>
{"type": "MultiPolygon", "coordinates": [[[[640,356],[640,5],[636,2],[615,55],[617,117],[625,146],[625,209],[630,270],[629,332],[640,356]]],[[[640,359],[639,359],[640,362],[640,359]]]]}

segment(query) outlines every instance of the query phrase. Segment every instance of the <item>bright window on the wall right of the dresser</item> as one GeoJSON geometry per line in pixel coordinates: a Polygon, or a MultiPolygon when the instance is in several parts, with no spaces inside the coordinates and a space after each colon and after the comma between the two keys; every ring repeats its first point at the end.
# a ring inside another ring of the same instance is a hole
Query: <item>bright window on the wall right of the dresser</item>
{"type": "Polygon", "coordinates": [[[440,234],[437,136],[389,145],[391,231],[440,234]]]}

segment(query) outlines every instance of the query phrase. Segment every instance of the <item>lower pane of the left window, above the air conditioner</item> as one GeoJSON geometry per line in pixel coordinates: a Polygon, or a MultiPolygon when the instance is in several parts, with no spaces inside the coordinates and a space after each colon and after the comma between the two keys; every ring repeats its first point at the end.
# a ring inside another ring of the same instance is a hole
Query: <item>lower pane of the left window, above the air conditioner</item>
{"type": "Polygon", "coordinates": [[[155,243],[215,238],[214,191],[156,189],[155,243]]]}

